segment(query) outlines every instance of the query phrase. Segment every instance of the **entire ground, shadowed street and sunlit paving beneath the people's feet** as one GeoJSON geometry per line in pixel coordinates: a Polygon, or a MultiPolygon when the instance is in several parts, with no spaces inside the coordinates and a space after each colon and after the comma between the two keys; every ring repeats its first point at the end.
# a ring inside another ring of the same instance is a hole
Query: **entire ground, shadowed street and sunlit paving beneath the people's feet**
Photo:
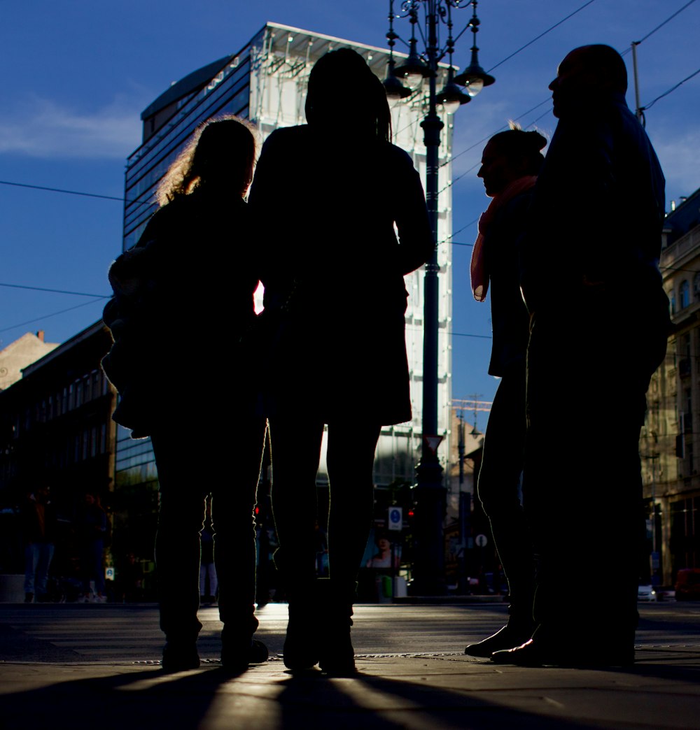
{"type": "Polygon", "coordinates": [[[502,606],[360,606],[352,678],[285,671],[277,656],[284,609],[260,612],[259,635],[273,658],[231,677],[216,661],[214,610],[202,612],[202,668],[166,675],[157,663],[155,607],[2,606],[0,727],[700,727],[700,604],[640,607],[636,664],[608,671],[522,669],[464,656],[465,642],[501,625],[502,606]]]}

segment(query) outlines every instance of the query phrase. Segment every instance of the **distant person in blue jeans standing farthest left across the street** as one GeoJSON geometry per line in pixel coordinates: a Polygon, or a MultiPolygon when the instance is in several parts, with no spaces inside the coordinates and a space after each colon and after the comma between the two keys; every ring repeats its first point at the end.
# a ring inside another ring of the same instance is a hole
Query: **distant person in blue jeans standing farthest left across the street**
{"type": "Polygon", "coordinates": [[[20,514],[25,542],[24,602],[44,602],[48,600],[47,581],[58,526],[46,483],[27,493],[20,514]]]}

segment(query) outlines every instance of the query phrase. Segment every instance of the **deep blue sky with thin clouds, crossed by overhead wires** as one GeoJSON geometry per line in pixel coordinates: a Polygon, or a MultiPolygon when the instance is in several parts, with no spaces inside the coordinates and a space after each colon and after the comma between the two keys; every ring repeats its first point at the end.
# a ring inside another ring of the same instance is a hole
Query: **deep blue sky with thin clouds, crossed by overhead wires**
{"type": "MultiPolygon", "coordinates": [[[[627,50],[687,1],[593,0],[503,64],[586,1],[479,2],[480,61],[485,69],[500,65],[492,71],[495,85],[454,115],[454,153],[461,153],[454,175],[463,175],[454,185],[454,230],[465,227],[457,242],[473,241],[472,222],[488,203],[476,178],[479,141],[549,98],[547,85],[568,50],[590,42],[627,50]]],[[[0,25],[0,180],[119,198],[126,155],[140,144],[140,112],[170,82],[240,50],[267,20],[385,47],[387,11],[388,2],[376,0],[6,1],[0,25]]],[[[470,15],[469,8],[454,13],[458,30],[470,15]]],[[[698,28],[700,1],[639,45],[642,105],[700,69],[698,28]]],[[[409,34],[406,20],[395,29],[402,37],[409,34]]],[[[456,64],[465,66],[470,45],[465,34],[456,64]]],[[[625,61],[631,77],[631,53],[625,61]]],[[[700,74],[647,111],[669,201],[700,186],[699,91],[700,74]]],[[[634,105],[632,87],[628,101],[634,105]]],[[[536,122],[551,135],[550,108],[544,104],[521,122],[536,122]]],[[[118,201],[0,184],[0,284],[108,293],[106,272],[121,250],[121,218],[118,201]]],[[[489,308],[473,301],[468,289],[470,254],[469,247],[454,247],[454,397],[490,400],[497,383],[486,374],[489,308]]],[[[0,286],[0,347],[38,329],[47,341],[63,342],[99,319],[102,303],[90,302],[0,286]]]]}

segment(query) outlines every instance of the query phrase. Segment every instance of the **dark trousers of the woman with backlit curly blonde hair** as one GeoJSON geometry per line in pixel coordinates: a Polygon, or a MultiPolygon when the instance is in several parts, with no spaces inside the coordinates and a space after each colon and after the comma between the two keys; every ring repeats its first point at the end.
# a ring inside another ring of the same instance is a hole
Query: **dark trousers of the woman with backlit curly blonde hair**
{"type": "Polygon", "coordinates": [[[233,631],[252,636],[258,623],[254,509],[265,419],[250,418],[224,433],[208,434],[199,447],[179,423],[156,430],[151,439],[160,484],[156,580],[162,631],[169,641],[191,641],[202,628],[197,620],[199,534],[211,494],[219,618],[233,631]]]}

